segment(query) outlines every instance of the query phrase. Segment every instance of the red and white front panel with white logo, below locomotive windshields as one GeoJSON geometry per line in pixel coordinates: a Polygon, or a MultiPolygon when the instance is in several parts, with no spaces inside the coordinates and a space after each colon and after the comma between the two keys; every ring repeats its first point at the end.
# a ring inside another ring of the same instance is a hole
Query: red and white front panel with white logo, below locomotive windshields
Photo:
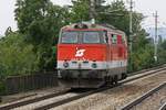
{"type": "Polygon", "coordinates": [[[58,68],[105,69],[103,64],[106,62],[105,44],[59,44],[58,50],[58,61],[60,64],[58,68]],[[96,64],[96,67],[91,64],[96,64]]]}

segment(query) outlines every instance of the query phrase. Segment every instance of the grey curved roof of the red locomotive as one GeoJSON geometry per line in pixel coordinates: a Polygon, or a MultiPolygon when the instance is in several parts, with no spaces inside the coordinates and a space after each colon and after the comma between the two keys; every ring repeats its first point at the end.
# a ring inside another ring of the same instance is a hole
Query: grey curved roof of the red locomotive
{"type": "Polygon", "coordinates": [[[102,29],[102,30],[107,30],[107,31],[112,31],[115,33],[120,33],[120,34],[125,34],[123,31],[117,30],[115,26],[111,25],[111,24],[92,24],[90,22],[82,22],[82,23],[73,23],[70,25],[65,25],[62,28],[62,30],[74,30],[76,29],[77,25],[85,25],[85,29],[102,29]]]}

